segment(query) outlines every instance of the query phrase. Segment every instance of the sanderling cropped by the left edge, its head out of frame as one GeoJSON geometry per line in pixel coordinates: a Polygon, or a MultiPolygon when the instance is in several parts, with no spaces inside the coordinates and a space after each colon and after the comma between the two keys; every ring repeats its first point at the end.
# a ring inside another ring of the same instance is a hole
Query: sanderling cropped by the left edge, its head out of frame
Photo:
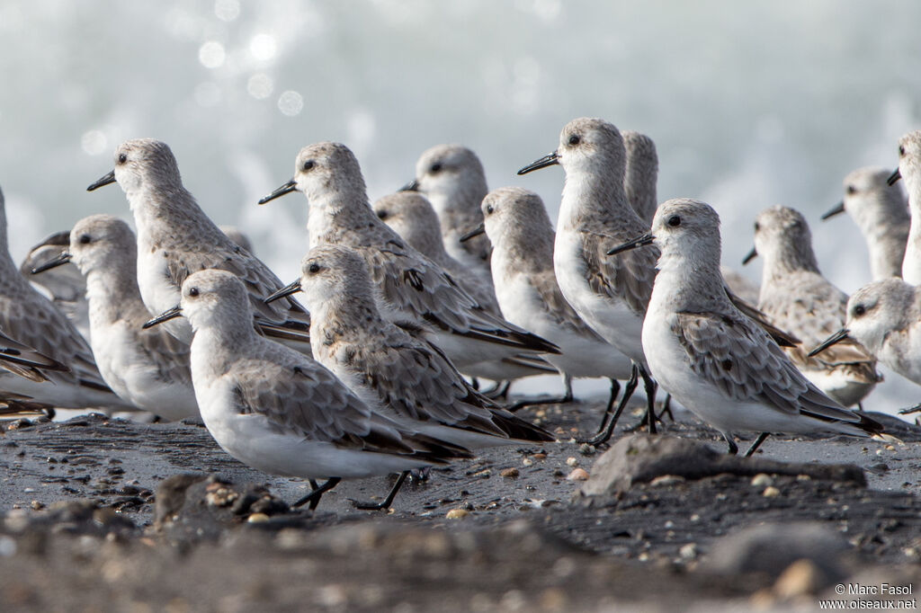
{"type": "Polygon", "coordinates": [[[0,330],[15,341],[66,366],[66,372],[44,372],[48,382],[0,375],[0,389],[51,407],[86,409],[135,407],[106,386],[87,340],[51,301],[19,272],[6,244],[6,202],[0,191],[0,330]]]}

